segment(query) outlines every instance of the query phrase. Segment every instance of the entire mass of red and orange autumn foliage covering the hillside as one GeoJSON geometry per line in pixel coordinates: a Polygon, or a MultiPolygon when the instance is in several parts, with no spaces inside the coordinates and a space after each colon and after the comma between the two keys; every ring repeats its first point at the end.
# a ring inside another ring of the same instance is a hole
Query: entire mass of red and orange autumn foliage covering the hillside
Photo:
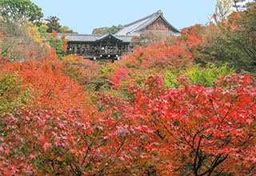
{"type": "MultiPolygon", "coordinates": [[[[235,30],[240,16],[232,15],[235,30]]],[[[218,34],[214,24],[191,26],[113,64],[76,54],[59,60],[54,49],[40,57],[25,50],[20,62],[1,58],[2,73],[17,75],[16,84],[30,94],[27,106],[0,113],[0,174],[254,175],[256,82],[250,75],[219,78],[214,87],[191,85],[180,75],[178,88],[154,75],[194,64],[218,34]],[[101,86],[115,97],[94,91],[101,86]]]]}

